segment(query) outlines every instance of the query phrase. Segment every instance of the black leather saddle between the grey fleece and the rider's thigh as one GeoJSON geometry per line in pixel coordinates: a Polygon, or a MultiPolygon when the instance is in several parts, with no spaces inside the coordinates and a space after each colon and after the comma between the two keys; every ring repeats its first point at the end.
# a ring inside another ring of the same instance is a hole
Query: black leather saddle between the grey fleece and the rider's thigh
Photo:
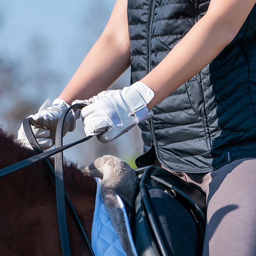
{"type": "Polygon", "coordinates": [[[167,170],[136,169],[140,189],[135,199],[133,238],[139,256],[201,256],[206,197],[167,170]]]}

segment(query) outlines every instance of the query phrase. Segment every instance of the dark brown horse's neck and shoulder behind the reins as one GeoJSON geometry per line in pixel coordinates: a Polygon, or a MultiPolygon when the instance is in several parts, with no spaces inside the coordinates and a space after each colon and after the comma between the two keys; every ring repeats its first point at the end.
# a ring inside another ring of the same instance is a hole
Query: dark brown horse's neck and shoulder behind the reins
{"type": "MultiPolygon", "coordinates": [[[[14,139],[14,135],[0,127],[0,169],[36,155],[14,139]]],[[[53,158],[50,161],[53,164],[53,158]]],[[[68,161],[63,172],[65,189],[90,238],[95,179],[68,161]]],[[[0,194],[0,255],[62,255],[55,184],[44,160],[2,177],[0,194]]],[[[73,216],[68,207],[66,209],[72,255],[89,255],[73,216]]]]}

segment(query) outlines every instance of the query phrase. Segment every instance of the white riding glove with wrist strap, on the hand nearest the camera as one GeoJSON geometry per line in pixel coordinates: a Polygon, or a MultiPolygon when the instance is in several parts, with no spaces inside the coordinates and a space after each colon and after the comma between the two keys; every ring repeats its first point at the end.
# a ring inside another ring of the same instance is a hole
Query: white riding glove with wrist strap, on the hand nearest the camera
{"type": "Polygon", "coordinates": [[[89,100],[76,100],[72,104],[89,104],[81,110],[84,133],[97,135],[105,143],[153,116],[147,108],[153,98],[154,92],[146,84],[136,82],[122,90],[103,91],[89,100]]]}

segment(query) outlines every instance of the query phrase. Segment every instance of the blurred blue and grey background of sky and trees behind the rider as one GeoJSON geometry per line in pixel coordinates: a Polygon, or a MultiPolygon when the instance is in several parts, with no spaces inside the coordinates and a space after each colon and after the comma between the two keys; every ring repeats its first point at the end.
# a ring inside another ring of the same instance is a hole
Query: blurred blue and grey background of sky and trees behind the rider
{"type": "MultiPolygon", "coordinates": [[[[22,120],[35,114],[47,98],[54,100],[105,28],[115,0],[0,3],[0,124],[17,136],[22,120]]],[[[115,67],[113,67],[115,68],[115,67]]],[[[130,83],[127,70],[112,86],[130,83]]],[[[84,136],[83,123],[64,143],[84,136]]],[[[66,158],[88,165],[96,158],[118,156],[132,167],[142,153],[136,126],[107,144],[96,138],[64,152],[66,158]]]]}

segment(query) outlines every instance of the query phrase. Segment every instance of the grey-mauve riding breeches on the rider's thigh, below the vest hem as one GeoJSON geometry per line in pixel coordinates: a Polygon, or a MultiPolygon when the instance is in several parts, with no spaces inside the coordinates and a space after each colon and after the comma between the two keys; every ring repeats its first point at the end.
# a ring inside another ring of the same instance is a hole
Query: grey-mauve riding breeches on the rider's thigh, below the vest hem
{"type": "Polygon", "coordinates": [[[255,256],[256,158],[208,173],[173,173],[206,193],[203,256],[255,256]]]}

